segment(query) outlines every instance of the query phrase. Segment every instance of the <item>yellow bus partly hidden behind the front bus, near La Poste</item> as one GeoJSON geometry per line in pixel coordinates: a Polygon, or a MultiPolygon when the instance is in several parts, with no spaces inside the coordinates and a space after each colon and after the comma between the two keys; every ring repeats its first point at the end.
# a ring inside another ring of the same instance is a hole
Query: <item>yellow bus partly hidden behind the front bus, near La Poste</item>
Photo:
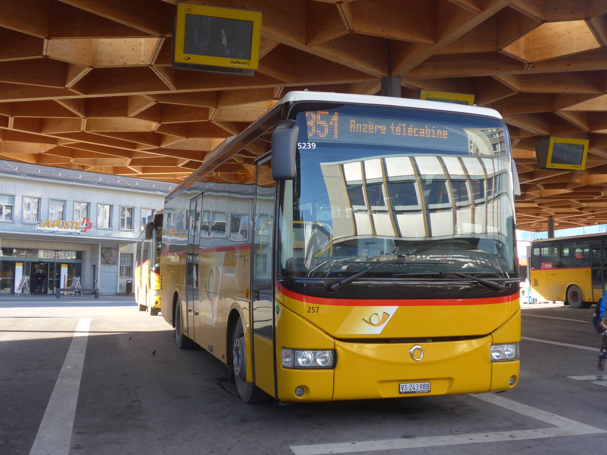
{"type": "Polygon", "coordinates": [[[154,214],[137,239],[135,257],[135,302],[139,311],[160,312],[160,247],[163,212],[154,214]]]}

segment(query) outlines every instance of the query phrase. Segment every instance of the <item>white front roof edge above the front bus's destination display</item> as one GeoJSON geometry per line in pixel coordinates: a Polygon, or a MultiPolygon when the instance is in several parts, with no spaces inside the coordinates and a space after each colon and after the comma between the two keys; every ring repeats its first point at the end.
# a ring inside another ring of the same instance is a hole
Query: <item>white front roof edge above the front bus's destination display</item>
{"type": "Polygon", "coordinates": [[[444,110],[446,112],[461,112],[483,115],[502,119],[497,110],[489,107],[467,106],[466,104],[441,103],[441,101],[426,101],[425,99],[397,98],[395,96],[355,95],[352,93],[336,92],[307,92],[296,90],[287,93],[280,103],[291,101],[334,101],[336,103],[376,104],[381,106],[413,107],[417,109],[444,110]]]}

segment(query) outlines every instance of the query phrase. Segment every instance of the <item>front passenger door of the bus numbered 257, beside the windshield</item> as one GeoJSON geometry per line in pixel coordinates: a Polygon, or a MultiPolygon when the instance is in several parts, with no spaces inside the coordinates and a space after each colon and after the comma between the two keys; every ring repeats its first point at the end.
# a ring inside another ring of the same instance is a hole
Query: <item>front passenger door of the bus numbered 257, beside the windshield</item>
{"type": "Polygon", "coordinates": [[[275,396],[274,391],[274,201],[270,158],[257,164],[253,226],[253,383],[275,396]]]}

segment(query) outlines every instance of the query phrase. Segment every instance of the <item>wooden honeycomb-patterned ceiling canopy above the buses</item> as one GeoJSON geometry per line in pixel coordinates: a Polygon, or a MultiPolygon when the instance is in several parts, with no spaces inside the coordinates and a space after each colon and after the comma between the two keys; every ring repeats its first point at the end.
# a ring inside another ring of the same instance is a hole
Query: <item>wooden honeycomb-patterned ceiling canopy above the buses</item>
{"type": "Polygon", "coordinates": [[[400,76],[501,112],[519,229],[607,223],[606,0],[209,0],[263,12],[252,77],[172,69],[176,4],[0,0],[0,159],[179,182],[290,90],[400,76]],[[589,139],[586,170],[538,170],[545,136],[589,139]]]}

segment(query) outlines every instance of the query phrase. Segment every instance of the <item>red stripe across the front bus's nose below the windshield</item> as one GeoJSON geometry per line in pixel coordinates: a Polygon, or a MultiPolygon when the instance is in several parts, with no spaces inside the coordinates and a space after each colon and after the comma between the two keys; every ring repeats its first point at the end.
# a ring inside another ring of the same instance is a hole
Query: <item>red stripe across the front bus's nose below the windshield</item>
{"type": "Polygon", "coordinates": [[[376,298],[324,298],[312,297],[311,295],[298,294],[283,288],[276,283],[277,291],[299,302],[310,303],[310,305],[333,305],[333,306],[464,306],[464,305],[497,305],[498,303],[510,303],[518,299],[518,294],[506,295],[506,297],[490,298],[453,298],[452,300],[431,300],[426,298],[405,300],[401,298],[390,298],[380,300],[376,298]]]}

